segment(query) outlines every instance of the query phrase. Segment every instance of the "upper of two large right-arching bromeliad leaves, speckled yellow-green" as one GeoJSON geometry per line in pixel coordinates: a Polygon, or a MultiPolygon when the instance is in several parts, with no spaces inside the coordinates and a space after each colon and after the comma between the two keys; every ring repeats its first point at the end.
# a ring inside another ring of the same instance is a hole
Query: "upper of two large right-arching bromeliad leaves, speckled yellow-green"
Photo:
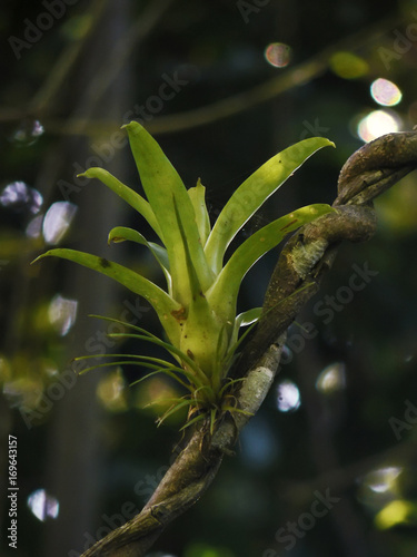
{"type": "Polygon", "coordinates": [[[308,157],[329,145],[334,146],[324,137],[299,141],[275,155],[238,187],[217,218],[205,247],[216,275],[222,267],[228,245],[245,223],[308,157]]]}

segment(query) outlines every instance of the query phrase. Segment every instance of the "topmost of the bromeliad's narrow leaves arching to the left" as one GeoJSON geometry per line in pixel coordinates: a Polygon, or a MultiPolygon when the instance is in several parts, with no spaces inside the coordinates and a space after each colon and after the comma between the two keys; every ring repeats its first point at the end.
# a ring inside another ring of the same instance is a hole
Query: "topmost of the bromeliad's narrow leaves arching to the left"
{"type": "Polygon", "coordinates": [[[83,174],[79,174],[79,176],[85,176],[86,178],[98,178],[100,182],[102,182],[105,186],[115,192],[115,194],[126,201],[131,207],[133,207],[133,209],[142,215],[163,242],[162,232],[155,216],[155,213],[149,203],[143,199],[141,195],[118,180],[115,176],[112,176],[103,168],[89,168],[83,174]]]}

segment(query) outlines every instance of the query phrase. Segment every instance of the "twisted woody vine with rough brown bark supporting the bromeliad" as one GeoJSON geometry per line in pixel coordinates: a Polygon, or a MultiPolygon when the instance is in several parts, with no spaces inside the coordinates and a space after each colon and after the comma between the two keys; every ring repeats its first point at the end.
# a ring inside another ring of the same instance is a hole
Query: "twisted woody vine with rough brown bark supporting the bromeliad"
{"type": "MultiPolygon", "coordinates": [[[[365,145],[340,172],[335,211],[288,241],[267,289],[262,317],[234,370],[235,378],[245,378],[235,393],[241,409],[255,414],[262,403],[286,330],[318,291],[339,244],[369,240],[376,228],[371,201],[416,167],[417,131],[388,134],[365,145]]],[[[143,557],[163,528],[201,497],[247,421],[245,414],[226,416],[212,437],[205,427],[196,429],[142,511],[83,557],[143,557]]]]}

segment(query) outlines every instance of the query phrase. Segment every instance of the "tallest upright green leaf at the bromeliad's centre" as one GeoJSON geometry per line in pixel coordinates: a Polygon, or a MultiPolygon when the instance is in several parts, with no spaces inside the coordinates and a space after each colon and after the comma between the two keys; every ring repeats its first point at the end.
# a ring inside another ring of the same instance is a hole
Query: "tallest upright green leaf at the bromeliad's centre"
{"type": "Polygon", "coordinates": [[[179,228],[176,205],[192,266],[201,287],[206,291],[214,280],[200,242],[191,199],[177,170],[152,136],[137,121],[131,121],[123,128],[129,134],[145,193],[162,231],[172,276],[173,297],[188,305],[192,294],[188,280],[186,246],[179,228]]]}

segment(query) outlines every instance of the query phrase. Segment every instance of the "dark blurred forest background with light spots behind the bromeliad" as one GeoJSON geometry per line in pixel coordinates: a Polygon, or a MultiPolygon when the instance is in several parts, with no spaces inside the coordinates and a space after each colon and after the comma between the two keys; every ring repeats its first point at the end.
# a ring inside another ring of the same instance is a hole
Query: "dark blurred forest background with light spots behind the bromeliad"
{"type": "MultiPolygon", "coordinates": [[[[0,485],[8,485],[12,434],[19,486],[18,549],[8,547],[2,494],[4,556],[79,555],[143,506],[180,440],[183,417],[157,428],[141,408],[172,385],[129,388],[140,377],[135,369],[77,381],[70,372],[72,358],[108,342],[108,325],[90,313],[120,319],[135,307],[128,319],[160,333],[145,301],[68,262],[29,265],[50,246],[36,224],[60,203],[73,218],[59,245],[160,280],[140,246],[107,246],[113,226],[149,235],[143,223],[100,184],[76,178],[98,165],[140,188],[130,150],[113,135],[135,117],[129,111],[145,106],[145,125],[188,187],[201,177],[212,218],[275,153],[312,135],[336,143],[268,201],[240,240],[298,206],[331,203],[341,165],[364,144],[357,125],[368,113],[387,110],[400,130],[417,124],[415,1],[71,3],[7,1],[0,14],[0,485]],[[290,47],[287,67],[266,60],[274,42],[290,47]],[[375,101],[377,78],[399,87],[398,105],[375,101]],[[178,90],[161,101],[167,79],[178,90]]],[[[377,235],[341,247],[291,328],[288,363],[236,457],[150,555],[417,555],[416,174],[376,207],[377,235]],[[354,292],[358,268],[374,274],[354,292]],[[306,322],[314,339],[302,334],[306,322]],[[284,412],[288,381],[300,403],[284,412]],[[317,502],[326,495],[328,509],[317,502]]],[[[242,310],[261,304],[276,258],[274,251],[248,274],[242,310]]]]}

